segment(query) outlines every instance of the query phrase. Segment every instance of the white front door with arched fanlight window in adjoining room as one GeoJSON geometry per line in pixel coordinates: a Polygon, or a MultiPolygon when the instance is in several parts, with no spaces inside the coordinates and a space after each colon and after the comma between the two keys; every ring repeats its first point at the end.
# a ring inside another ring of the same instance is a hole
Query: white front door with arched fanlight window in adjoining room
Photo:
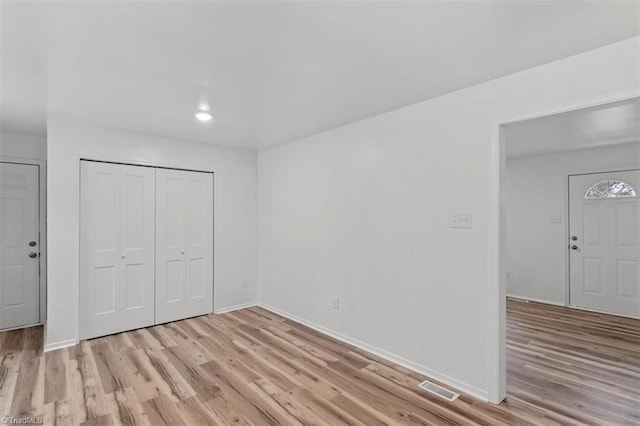
{"type": "Polygon", "coordinates": [[[570,176],[570,302],[640,317],[640,170],[570,176]]]}

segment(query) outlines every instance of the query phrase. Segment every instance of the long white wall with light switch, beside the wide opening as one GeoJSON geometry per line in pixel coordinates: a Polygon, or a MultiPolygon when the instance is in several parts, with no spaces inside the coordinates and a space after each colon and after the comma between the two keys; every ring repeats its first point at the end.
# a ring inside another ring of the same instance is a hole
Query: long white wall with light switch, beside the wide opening
{"type": "Polygon", "coordinates": [[[637,88],[639,48],[636,37],[260,152],[259,300],[497,399],[497,124],[637,88]],[[455,212],[473,213],[473,229],[450,229],[455,212]]]}

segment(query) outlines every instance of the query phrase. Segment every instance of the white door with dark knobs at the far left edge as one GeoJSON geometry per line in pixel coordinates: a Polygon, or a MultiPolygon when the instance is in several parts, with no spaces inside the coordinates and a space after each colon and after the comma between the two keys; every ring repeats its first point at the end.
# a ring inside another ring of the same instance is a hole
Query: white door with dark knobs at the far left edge
{"type": "Polygon", "coordinates": [[[0,163],[0,329],[40,322],[38,166],[0,163]]]}

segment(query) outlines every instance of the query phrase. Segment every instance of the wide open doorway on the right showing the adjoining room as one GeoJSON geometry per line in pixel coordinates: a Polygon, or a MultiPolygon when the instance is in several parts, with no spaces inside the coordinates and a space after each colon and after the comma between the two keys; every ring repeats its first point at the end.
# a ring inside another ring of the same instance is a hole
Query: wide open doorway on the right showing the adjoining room
{"type": "Polygon", "coordinates": [[[562,406],[560,423],[633,422],[640,379],[615,372],[640,369],[640,98],[504,124],[501,139],[507,400],[562,406]]]}

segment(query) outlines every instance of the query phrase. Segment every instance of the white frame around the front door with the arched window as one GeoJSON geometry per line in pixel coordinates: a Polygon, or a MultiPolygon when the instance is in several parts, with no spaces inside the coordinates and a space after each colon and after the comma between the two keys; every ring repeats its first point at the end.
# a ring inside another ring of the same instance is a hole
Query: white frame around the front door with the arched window
{"type": "MultiPolygon", "coordinates": [[[[633,142],[631,142],[633,143],[633,142]]],[[[636,143],[640,143],[640,142],[636,142],[636,143]]],[[[564,234],[566,236],[566,243],[567,243],[567,247],[569,246],[569,241],[571,238],[571,222],[570,222],[570,212],[571,212],[571,199],[569,198],[571,196],[570,191],[570,178],[571,176],[586,176],[586,175],[596,175],[596,174],[600,174],[600,173],[616,173],[616,172],[626,172],[626,171],[634,171],[634,170],[640,170],[640,162],[638,163],[629,163],[629,164],[624,164],[624,165],[619,165],[619,166],[610,166],[610,167],[590,167],[588,169],[578,169],[578,170],[573,170],[573,171],[566,171],[565,175],[566,175],[566,179],[565,179],[565,185],[564,185],[564,217],[566,218],[566,220],[563,223],[564,226],[564,234]]],[[[598,311],[598,310],[594,310],[594,309],[588,309],[588,308],[583,308],[580,306],[574,306],[571,304],[571,256],[570,256],[570,252],[569,250],[565,250],[564,252],[564,275],[565,275],[565,299],[564,299],[564,306],[567,308],[572,308],[572,309],[578,309],[581,311],[588,311],[588,312],[597,312],[597,313],[603,313],[603,314],[607,314],[607,315],[615,315],[615,316],[619,316],[619,317],[625,317],[625,318],[633,318],[633,319],[637,319],[636,317],[631,317],[631,316],[627,316],[627,315],[620,315],[620,314],[615,314],[615,313],[611,313],[611,312],[604,312],[604,311],[598,311]]]]}

